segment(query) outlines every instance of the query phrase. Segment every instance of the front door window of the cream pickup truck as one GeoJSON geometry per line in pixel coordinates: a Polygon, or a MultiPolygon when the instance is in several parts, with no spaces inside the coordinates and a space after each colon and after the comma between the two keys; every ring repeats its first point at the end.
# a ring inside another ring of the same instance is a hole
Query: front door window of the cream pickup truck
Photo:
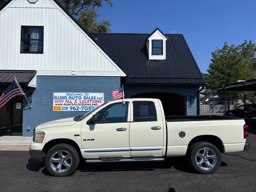
{"type": "Polygon", "coordinates": [[[98,123],[127,122],[129,102],[114,103],[102,109],[98,114],[98,123]]]}

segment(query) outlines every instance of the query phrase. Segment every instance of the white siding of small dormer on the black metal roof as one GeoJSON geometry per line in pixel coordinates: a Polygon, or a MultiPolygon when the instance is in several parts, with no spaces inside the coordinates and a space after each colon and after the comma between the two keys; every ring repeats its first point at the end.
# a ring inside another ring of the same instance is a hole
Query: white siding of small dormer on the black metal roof
{"type": "Polygon", "coordinates": [[[166,58],[166,37],[158,30],[153,33],[147,41],[147,51],[149,59],[163,60],[166,58]],[[152,40],[163,40],[163,55],[152,55],[152,40]]]}

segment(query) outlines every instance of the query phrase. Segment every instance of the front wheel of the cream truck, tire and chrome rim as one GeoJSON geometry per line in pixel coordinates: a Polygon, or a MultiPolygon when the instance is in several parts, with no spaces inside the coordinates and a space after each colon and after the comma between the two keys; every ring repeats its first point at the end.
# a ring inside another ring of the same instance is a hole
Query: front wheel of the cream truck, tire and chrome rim
{"type": "Polygon", "coordinates": [[[74,147],[62,143],[53,146],[46,154],[45,166],[48,172],[57,177],[72,174],[79,164],[79,155],[74,147]]]}

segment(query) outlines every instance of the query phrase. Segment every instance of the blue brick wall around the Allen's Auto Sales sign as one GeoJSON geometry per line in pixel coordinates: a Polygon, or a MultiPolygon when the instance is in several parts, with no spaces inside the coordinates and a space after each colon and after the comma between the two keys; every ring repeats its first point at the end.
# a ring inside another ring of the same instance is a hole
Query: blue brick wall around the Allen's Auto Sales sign
{"type": "Polygon", "coordinates": [[[104,102],[112,100],[112,91],[120,88],[120,77],[37,76],[37,88],[32,92],[32,108],[23,99],[23,136],[32,136],[33,129],[47,121],[68,118],[85,112],[52,111],[53,92],[104,92],[104,102]],[[30,126],[30,130],[27,130],[30,126]]]}

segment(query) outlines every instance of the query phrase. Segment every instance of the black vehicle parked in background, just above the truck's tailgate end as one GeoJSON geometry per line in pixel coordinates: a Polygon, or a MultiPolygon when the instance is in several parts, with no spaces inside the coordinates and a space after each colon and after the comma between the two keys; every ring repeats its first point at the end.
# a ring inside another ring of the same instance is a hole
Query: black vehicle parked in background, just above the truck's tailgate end
{"type": "Polygon", "coordinates": [[[228,110],[224,112],[225,116],[240,117],[244,118],[245,115],[256,114],[256,104],[245,104],[239,105],[238,108],[234,110],[228,110]]]}

